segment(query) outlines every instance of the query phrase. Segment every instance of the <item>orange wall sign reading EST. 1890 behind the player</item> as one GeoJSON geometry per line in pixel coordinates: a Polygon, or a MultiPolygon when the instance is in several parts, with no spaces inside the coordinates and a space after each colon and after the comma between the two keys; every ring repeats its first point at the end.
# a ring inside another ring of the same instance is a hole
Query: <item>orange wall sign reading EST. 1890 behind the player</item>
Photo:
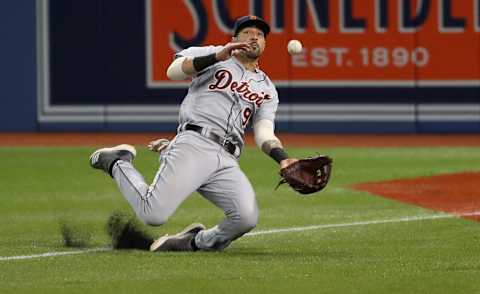
{"type": "Polygon", "coordinates": [[[235,19],[263,17],[272,33],[262,68],[279,86],[477,86],[480,0],[147,1],[151,88],[174,52],[224,44],[235,19]],[[228,5],[227,5],[228,4],[228,5]],[[299,39],[300,55],[286,44],[299,39]]]}

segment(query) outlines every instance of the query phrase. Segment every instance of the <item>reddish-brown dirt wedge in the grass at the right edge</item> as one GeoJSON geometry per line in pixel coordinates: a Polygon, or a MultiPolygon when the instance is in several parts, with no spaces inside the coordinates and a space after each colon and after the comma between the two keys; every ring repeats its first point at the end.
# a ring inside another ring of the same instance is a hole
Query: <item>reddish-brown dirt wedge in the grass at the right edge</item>
{"type": "MultiPolygon", "coordinates": [[[[353,188],[404,203],[453,214],[480,213],[480,172],[363,183],[353,188]]],[[[480,221],[480,215],[464,216],[480,221]]]]}

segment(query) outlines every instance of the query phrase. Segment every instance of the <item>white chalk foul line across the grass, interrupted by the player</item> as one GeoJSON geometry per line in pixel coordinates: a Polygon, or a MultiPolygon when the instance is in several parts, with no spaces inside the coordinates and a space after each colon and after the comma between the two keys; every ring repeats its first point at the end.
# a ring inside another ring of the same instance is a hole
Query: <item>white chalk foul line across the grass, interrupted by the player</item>
{"type": "MultiPolygon", "coordinates": [[[[434,215],[425,215],[425,216],[408,216],[408,217],[394,218],[394,219],[370,220],[370,221],[359,221],[359,222],[350,222],[350,223],[324,224],[324,225],[314,225],[314,226],[304,226],[304,227],[290,227],[290,228],[261,230],[261,231],[247,233],[245,234],[245,236],[259,236],[259,235],[303,232],[303,231],[322,230],[322,229],[331,229],[331,228],[415,222],[415,221],[422,221],[422,220],[448,219],[448,218],[459,218],[459,217],[479,216],[479,215],[480,215],[480,211],[462,213],[462,214],[434,214],[434,215]]],[[[56,257],[56,256],[62,256],[62,255],[76,255],[76,254],[85,254],[85,253],[91,253],[91,252],[101,252],[101,251],[111,251],[111,250],[112,248],[109,248],[109,247],[97,247],[97,248],[89,248],[89,249],[74,250],[74,251],[54,251],[54,252],[46,252],[46,253],[32,254],[32,255],[0,256],[0,261],[56,257]]]]}

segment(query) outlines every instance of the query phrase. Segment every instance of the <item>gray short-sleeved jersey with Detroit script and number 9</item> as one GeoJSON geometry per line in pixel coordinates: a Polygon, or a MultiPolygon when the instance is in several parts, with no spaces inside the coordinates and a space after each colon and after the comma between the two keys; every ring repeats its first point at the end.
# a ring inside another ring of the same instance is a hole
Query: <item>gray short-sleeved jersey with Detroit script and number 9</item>
{"type": "MultiPolygon", "coordinates": [[[[190,47],[178,56],[204,56],[223,46],[190,47]]],[[[236,58],[220,61],[192,78],[180,105],[180,124],[207,127],[243,145],[245,128],[261,119],[275,120],[278,93],[260,69],[248,71],[236,58]]]]}

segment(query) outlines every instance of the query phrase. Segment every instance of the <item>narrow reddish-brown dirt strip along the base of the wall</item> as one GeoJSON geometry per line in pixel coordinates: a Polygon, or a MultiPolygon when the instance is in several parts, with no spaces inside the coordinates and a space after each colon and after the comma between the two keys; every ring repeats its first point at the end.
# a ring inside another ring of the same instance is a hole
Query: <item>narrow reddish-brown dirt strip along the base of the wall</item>
{"type": "MultiPolygon", "coordinates": [[[[144,145],[173,133],[0,133],[0,146],[99,146],[129,143],[144,145]]],[[[278,134],[292,147],[435,147],[480,146],[478,135],[316,135],[278,134]]],[[[246,136],[253,145],[253,136],[246,136]]]]}

